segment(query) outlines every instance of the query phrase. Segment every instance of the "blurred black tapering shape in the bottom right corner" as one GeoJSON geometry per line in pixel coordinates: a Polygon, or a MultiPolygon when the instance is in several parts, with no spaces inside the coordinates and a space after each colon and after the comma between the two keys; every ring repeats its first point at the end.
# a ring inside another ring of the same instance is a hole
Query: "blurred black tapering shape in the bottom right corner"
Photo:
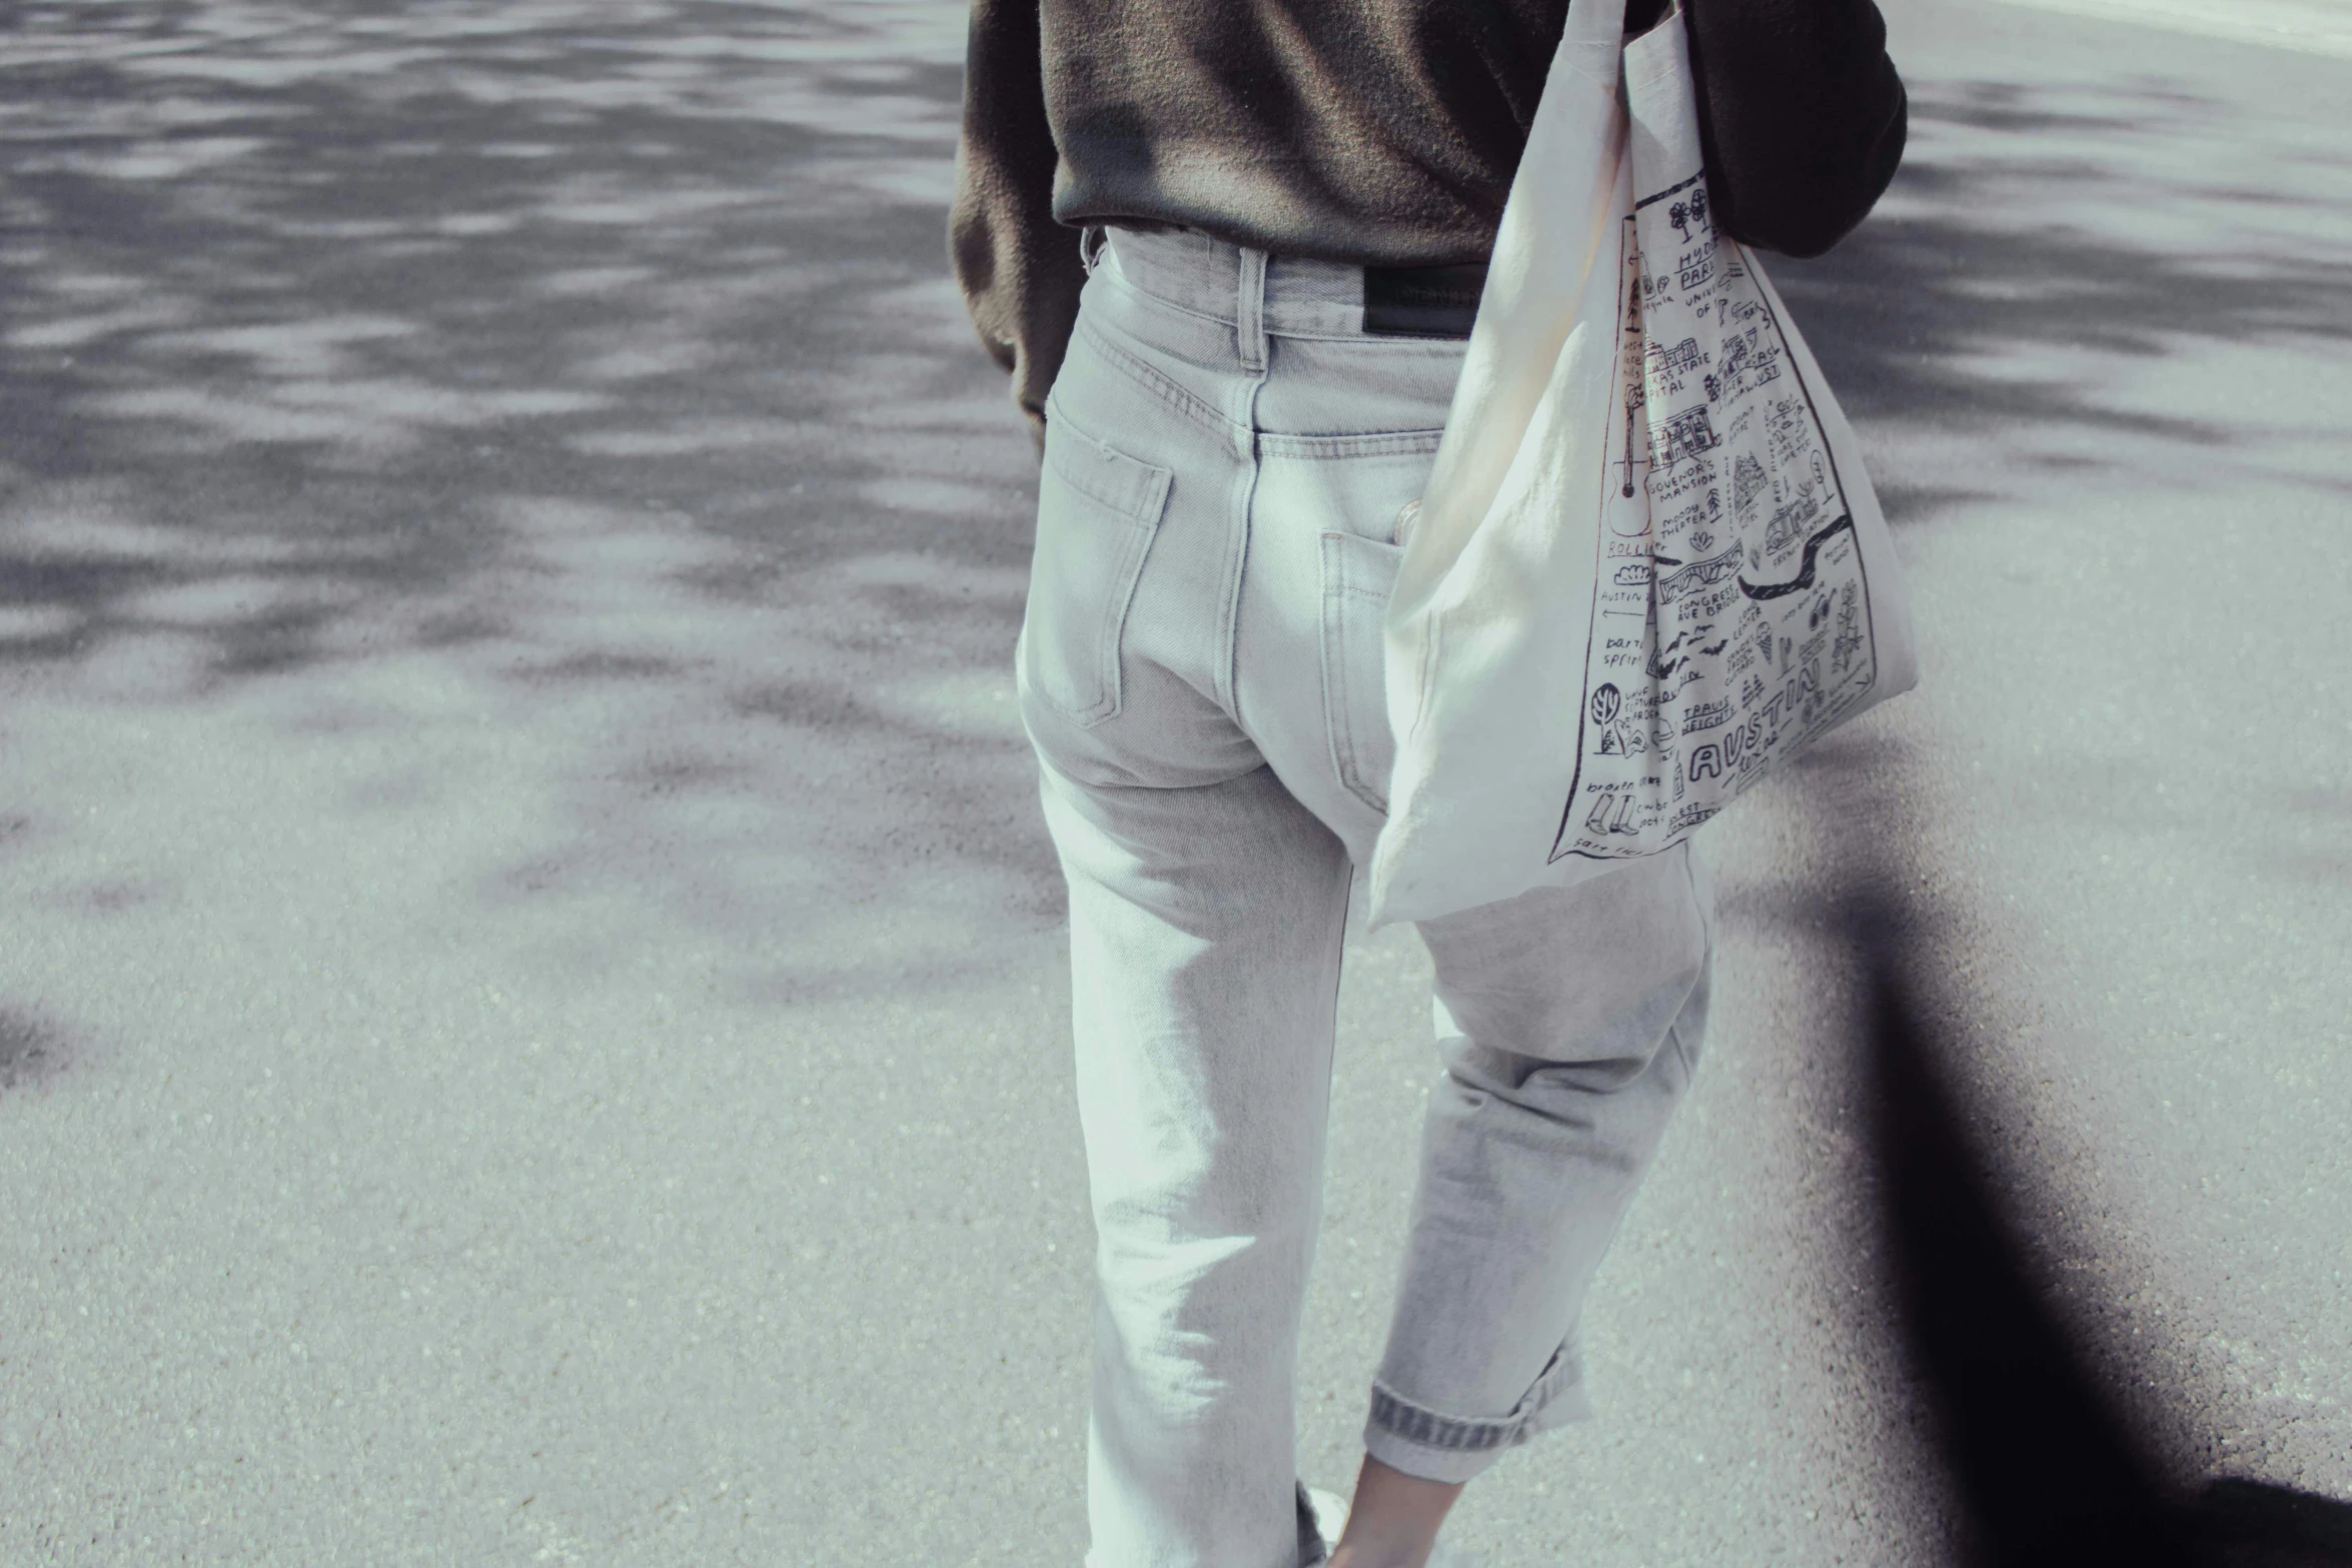
{"type": "Polygon", "coordinates": [[[2263,1481],[2171,1490],[2049,1312],[1938,1077],[1898,922],[1853,922],[1870,969],[1877,1164],[1896,1300],[1940,1413],[1969,1556],[1997,1568],[2352,1563],[2352,1502],[2263,1481]]]}

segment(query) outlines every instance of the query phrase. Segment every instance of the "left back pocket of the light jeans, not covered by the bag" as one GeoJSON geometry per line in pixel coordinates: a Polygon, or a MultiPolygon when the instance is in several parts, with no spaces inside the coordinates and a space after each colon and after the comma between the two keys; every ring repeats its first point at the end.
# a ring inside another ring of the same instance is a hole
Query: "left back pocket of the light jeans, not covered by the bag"
{"type": "Polygon", "coordinates": [[[1021,677],[1070,724],[1094,726],[1120,710],[1120,637],[1167,498],[1167,468],[1131,458],[1051,411],[1021,677]]]}

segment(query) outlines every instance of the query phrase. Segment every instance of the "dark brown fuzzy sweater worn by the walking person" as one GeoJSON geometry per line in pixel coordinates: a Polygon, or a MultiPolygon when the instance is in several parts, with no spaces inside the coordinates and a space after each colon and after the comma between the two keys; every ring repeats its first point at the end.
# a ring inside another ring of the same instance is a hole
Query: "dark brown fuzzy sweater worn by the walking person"
{"type": "MultiPolygon", "coordinates": [[[[1663,0],[1630,0],[1628,31],[1663,0]]],[[[1813,256],[1903,155],[1872,0],[1684,0],[1717,221],[1813,256]]],[[[1277,256],[1484,261],[1566,0],[974,0],[950,252],[1033,421],[1084,270],[1073,228],[1277,256]]]]}

